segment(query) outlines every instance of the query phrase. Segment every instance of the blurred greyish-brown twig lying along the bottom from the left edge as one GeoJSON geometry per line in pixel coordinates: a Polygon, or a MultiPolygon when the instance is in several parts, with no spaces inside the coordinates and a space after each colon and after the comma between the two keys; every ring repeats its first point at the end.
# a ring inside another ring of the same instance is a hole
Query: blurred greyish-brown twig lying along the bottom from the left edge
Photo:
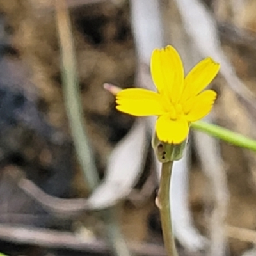
{"type": "MultiPolygon", "coordinates": [[[[13,225],[0,224],[0,239],[19,244],[30,244],[44,248],[79,250],[95,254],[109,253],[109,246],[102,240],[86,241],[71,232],[53,231],[44,228],[13,227],[13,225]]],[[[166,256],[164,248],[155,244],[131,243],[132,252],[136,255],[166,256]]]]}

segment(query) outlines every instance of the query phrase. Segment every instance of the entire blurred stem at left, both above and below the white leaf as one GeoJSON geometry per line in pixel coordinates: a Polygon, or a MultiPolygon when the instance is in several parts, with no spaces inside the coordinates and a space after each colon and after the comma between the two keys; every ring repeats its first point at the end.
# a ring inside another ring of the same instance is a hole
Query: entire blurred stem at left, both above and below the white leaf
{"type": "MultiPolygon", "coordinates": [[[[84,174],[84,182],[86,182],[89,191],[92,192],[99,184],[99,176],[84,125],[83,108],[77,76],[76,54],[70,17],[65,1],[66,0],[55,0],[56,24],[61,49],[63,94],[76,154],[84,174]]],[[[106,223],[109,244],[113,253],[115,256],[129,256],[129,250],[124,242],[118,221],[116,220],[115,210],[106,209],[102,211],[101,214],[106,223]]]]}

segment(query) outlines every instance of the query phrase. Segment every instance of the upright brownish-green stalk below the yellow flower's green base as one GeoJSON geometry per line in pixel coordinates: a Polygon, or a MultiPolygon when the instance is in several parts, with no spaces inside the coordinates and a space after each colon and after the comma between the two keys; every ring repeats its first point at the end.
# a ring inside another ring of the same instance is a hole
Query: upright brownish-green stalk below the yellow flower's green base
{"type": "Polygon", "coordinates": [[[158,193],[161,225],[164,239],[164,246],[168,256],[177,256],[175,241],[172,230],[172,217],[170,205],[170,180],[172,176],[173,161],[162,164],[160,188],[158,193]]]}

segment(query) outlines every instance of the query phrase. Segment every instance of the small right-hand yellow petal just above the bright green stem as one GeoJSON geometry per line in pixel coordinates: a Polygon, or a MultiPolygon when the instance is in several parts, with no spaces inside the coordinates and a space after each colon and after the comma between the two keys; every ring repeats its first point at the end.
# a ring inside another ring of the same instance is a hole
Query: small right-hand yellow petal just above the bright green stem
{"type": "Polygon", "coordinates": [[[217,93],[212,90],[206,90],[195,97],[194,104],[191,106],[186,119],[194,122],[202,119],[212,109],[217,93]]]}

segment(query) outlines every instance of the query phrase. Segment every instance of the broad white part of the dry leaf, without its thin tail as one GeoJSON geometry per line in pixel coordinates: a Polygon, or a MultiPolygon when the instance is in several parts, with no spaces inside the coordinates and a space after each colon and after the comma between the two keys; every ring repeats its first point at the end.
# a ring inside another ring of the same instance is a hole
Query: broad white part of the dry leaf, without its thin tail
{"type": "Polygon", "coordinates": [[[144,120],[136,120],[109,156],[104,182],[88,198],[91,209],[104,209],[125,198],[143,171],[149,147],[147,126],[144,120]]]}

